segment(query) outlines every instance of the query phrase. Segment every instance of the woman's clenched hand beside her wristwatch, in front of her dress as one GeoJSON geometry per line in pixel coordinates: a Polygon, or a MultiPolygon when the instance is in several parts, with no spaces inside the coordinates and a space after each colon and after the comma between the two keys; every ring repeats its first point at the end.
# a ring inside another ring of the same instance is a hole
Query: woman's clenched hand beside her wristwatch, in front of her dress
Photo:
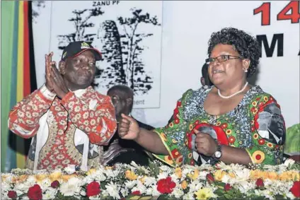
{"type": "Polygon", "coordinates": [[[195,134],[197,134],[195,139],[197,152],[212,157],[217,151],[218,143],[214,141],[209,134],[202,133],[198,130],[195,130],[195,134]]]}

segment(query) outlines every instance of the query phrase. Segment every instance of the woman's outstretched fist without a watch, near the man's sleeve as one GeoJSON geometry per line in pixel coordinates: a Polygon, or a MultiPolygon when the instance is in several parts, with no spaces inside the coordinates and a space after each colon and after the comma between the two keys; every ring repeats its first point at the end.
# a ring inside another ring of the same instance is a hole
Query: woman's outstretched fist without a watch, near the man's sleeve
{"type": "Polygon", "coordinates": [[[132,117],[121,114],[122,120],[118,126],[118,132],[121,139],[134,140],[139,136],[139,124],[132,117]]]}

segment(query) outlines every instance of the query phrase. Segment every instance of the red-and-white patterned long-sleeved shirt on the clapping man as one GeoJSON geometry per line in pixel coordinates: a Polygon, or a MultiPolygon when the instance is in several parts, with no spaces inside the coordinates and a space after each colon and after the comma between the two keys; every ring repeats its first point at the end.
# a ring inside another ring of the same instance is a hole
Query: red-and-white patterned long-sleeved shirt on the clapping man
{"type": "Polygon", "coordinates": [[[110,141],[117,123],[110,97],[91,87],[60,100],[42,86],[13,107],[8,127],[25,139],[34,137],[27,168],[87,170],[102,163],[101,145],[110,141]]]}

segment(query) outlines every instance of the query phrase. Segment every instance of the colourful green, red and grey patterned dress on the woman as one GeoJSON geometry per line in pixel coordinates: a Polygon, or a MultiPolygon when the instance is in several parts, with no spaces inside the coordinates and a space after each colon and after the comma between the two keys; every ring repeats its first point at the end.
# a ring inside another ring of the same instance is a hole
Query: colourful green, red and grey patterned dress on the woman
{"type": "Polygon", "coordinates": [[[190,89],[183,94],[174,110],[173,122],[154,130],[169,155],[154,156],[173,167],[214,164],[212,158],[199,155],[192,146],[195,138],[193,129],[198,129],[223,145],[245,148],[253,163],[282,163],[285,124],[276,100],[260,86],[253,86],[235,109],[213,116],[204,110],[204,100],[212,87],[190,89]]]}

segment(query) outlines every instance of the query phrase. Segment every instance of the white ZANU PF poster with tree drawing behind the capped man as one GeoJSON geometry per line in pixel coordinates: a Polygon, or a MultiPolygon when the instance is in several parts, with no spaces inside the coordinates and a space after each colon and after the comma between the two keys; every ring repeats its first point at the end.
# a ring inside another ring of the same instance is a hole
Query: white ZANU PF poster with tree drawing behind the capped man
{"type": "MultiPolygon", "coordinates": [[[[125,84],[134,90],[134,108],[159,107],[162,1],[40,1],[33,10],[37,73],[45,50],[58,63],[69,42],[83,40],[103,54],[96,90],[125,84]]],[[[44,76],[37,78],[40,86],[44,76]]]]}

